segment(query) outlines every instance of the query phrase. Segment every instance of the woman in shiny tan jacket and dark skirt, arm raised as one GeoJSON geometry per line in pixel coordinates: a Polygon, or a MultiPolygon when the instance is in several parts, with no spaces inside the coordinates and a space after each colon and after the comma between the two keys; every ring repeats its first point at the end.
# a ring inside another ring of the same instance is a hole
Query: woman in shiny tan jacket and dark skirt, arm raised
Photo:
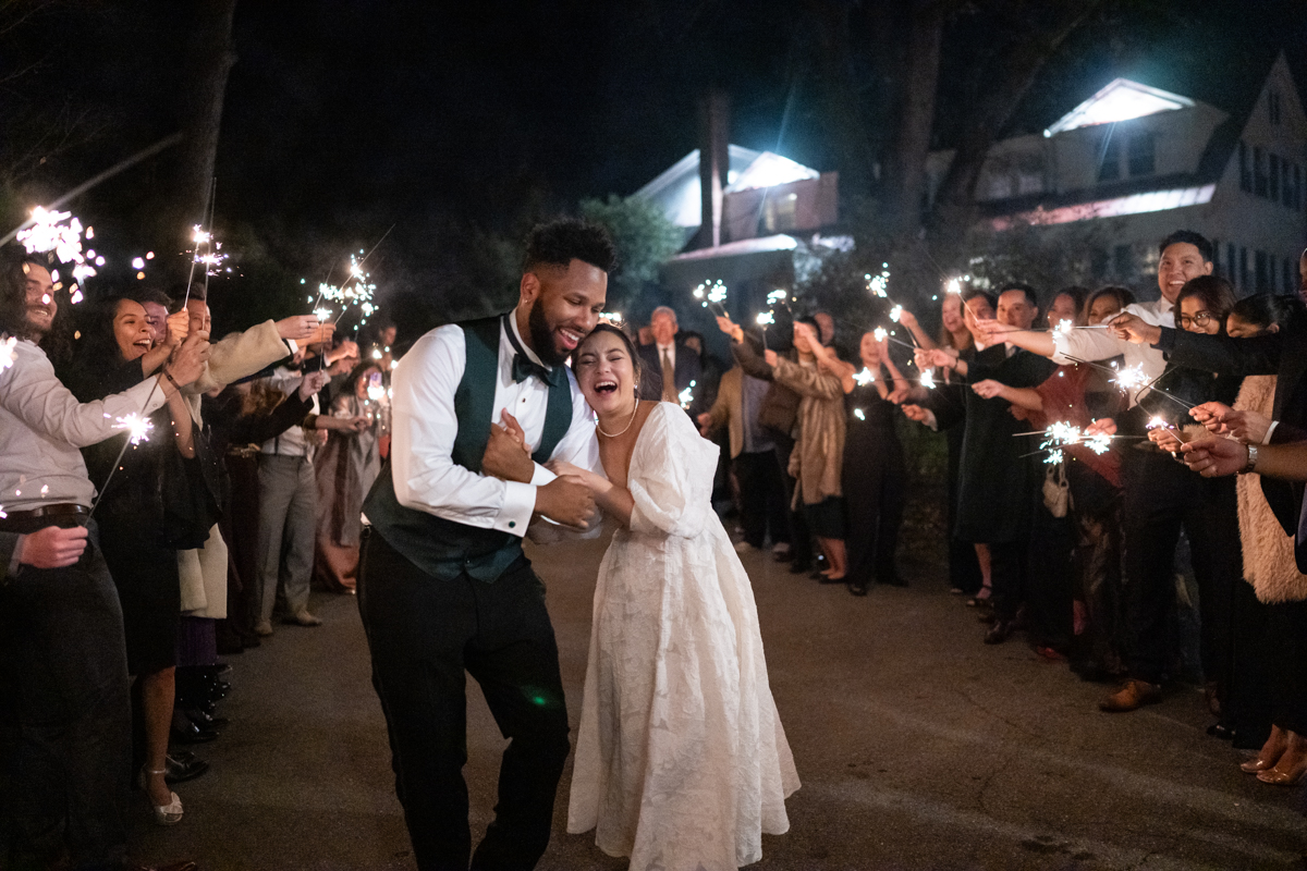
{"type": "Polygon", "coordinates": [[[791,362],[767,349],[763,358],[772,377],[800,397],[797,436],[789,454],[789,474],[797,481],[791,505],[804,507],[805,520],[826,555],[821,571],[825,582],[843,581],[844,505],[842,500],[840,464],[844,454],[844,388],[829,367],[819,363],[835,360],[834,351],[818,340],[817,323],[795,321],[795,350],[799,362],[791,362]]]}

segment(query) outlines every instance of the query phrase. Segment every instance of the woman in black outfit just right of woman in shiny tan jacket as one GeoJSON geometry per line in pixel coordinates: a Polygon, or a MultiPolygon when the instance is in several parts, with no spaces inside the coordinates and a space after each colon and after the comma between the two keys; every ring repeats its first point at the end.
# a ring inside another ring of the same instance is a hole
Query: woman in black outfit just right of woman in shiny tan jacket
{"type": "Polygon", "coordinates": [[[846,363],[838,373],[847,415],[842,473],[848,517],[844,580],[850,593],[867,595],[873,580],[906,586],[894,565],[894,552],[903,522],[907,467],[890,396],[906,389],[907,380],[874,333],[863,334],[859,356],[860,371],[846,363]]]}

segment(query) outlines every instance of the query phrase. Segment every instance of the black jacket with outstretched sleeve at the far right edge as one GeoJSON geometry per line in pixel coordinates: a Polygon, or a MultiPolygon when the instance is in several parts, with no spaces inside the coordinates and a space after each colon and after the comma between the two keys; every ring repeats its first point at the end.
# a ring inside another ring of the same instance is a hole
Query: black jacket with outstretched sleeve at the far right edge
{"type": "MultiPolygon", "coordinates": [[[[1272,419],[1280,420],[1273,444],[1307,439],[1307,319],[1294,319],[1278,333],[1252,338],[1202,336],[1162,328],[1154,346],[1172,363],[1222,375],[1274,375],[1272,419]]],[[[1302,512],[1303,486],[1261,477],[1261,492],[1283,530],[1295,535],[1302,512]]]]}

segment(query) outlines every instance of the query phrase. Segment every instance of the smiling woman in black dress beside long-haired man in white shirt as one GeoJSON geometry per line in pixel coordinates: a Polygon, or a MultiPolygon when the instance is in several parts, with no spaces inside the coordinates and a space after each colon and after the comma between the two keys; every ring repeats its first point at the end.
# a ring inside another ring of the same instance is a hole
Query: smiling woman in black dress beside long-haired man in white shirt
{"type": "MultiPolygon", "coordinates": [[[[86,311],[82,338],[63,379],[89,402],[140,383],[163,366],[179,345],[184,324],[170,320],[173,333],[163,351],[152,350],[150,329],[140,303],[111,298],[86,311]]],[[[91,483],[99,488],[95,520],[101,546],[123,606],[128,671],[136,676],[145,734],[141,786],[161,825],[182,820],[182,800],[163,780],[175,693],[176,635],[180,618],[178,543],[165,531],[163,494],[188,486],[195,464],[195,424],[186,400],[174,393],[146,418],[144,439],[129,444],[133,431],[82,451],[91,483]],[[107,482],[107,483],[106,483],[107,482]]],[[[139,434],[140,430],[136,430],[139,434]]],[[[193,547],[195,545],[186,545],[193,547]]]]}

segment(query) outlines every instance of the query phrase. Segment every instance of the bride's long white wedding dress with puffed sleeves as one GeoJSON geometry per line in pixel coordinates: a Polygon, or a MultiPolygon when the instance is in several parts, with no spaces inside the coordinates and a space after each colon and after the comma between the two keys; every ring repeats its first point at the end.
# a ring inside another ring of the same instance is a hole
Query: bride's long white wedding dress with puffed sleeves
{"type": "Polygon", "coordinates": [[[799,774],[749,576],[712,511],[718,447],[661,402],[599,568],[567,831],[635,871],[727,871],[789,829],[799,774]]]}

